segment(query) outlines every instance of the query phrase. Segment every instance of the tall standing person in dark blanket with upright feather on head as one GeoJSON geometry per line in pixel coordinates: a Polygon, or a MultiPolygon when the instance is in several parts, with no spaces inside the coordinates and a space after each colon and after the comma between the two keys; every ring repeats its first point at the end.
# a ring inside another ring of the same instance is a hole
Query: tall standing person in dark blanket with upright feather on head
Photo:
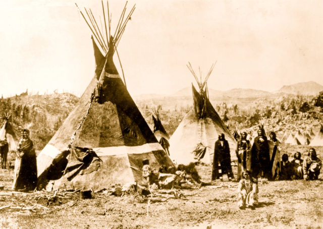
{"type": "Polygon", "coordinates": [[[258,136],[254,138],[251,148],[251,170],[252,177],[257,178],[260,174],[261,178],[272,179],[270,154],[267,137],[264,130],[259,127],[258,136]]]}

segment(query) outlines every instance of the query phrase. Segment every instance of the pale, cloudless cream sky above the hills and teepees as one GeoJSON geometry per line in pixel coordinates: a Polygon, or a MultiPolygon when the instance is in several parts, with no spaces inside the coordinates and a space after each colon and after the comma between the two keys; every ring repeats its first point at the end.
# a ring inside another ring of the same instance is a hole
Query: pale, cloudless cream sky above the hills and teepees
{"type": "MultiPolygon", "coordinates": [[[[0,2],[0,94],[83,93],[95,65],[75,2],[104,24],[99,0],[0,2]]],[[[109,1],[113,30],[124,4],[109,1]]],[[[188,62],[202,76],[217,62],[208,80],[215,90],[323,85],[323,1],[131,0],[127,12],[134,4],[118,46],[132,95],[190,86],[188,62]]],[[[115,64],[121,73],[116,55],[115,64]]]]}

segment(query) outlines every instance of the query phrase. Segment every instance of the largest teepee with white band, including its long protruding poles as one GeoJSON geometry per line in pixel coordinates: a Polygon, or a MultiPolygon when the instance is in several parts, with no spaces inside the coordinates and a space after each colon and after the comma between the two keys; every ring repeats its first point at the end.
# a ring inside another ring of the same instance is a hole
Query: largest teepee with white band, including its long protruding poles
{"type": "MultiPolygon", "coordinates": [[[[95,25],[89,11],[91,23],[87,24],[94,36],[95,74],[74,110],[37,157],[38,189],[47,185],[47,190],[73,187],[99,191],[128,182],[145,185],[141,171],[143,160],[149,160],[151,169],[173,166],[131,98],[113,61],[134,9],[126,17],[125,6],[114,36],[110,34],[109,17],[109,29],[105,26],[106,43],[103,31],[95,25]]],[[[102,10],[105,22],[103,2],[102,10]]]]}

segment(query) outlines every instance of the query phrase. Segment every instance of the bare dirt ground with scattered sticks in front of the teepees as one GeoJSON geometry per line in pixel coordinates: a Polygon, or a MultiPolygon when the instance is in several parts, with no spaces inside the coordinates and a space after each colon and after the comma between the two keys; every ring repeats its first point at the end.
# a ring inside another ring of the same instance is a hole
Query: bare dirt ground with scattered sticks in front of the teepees
{"type": "MultiPolygon", "coordinates": [[[[304,156],[309,148],[285,147],[283,152],[291,155],[299,150],[304,156]]],[[[323,159],[323,147],[315,148],[323,159]]],[[[209,180],[210,166],[199,165],[198,170],[205,181],[209,180]]],[[[147,215],[147,201],[135,195],[96,193],[93,199],[80,200],[74,193],[48,201],[45,195],[52,193],[12,192],[7,189],[13,182],[13,169],[1,169],[0,185],[5,190],[0,191],[0,228],[321,228],[322,174],[319,178],[259,182],[259,206],[255,210],[238,209],[237,183],[219,181],[214,186],[182,190],[187,199],[151,203],[147,215]],[[35,204],[43,207],[23,208],[35,204]],[[22,208],[1,209],[8,205],[22,208]]]]}

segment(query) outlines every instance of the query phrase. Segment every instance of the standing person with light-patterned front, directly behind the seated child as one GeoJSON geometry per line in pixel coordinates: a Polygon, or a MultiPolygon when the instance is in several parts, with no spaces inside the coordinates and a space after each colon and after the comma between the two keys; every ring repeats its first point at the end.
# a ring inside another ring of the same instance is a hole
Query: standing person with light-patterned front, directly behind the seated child
{"type": "Polygon", "coordinates": [[[238,158],[238,175],[237,182],[243,179],[243,171],[247,170],[247,160],[250,158],[250,141],[247,140],[247,133],[242,132],[237,143],[236,154],[238,158]]]}

